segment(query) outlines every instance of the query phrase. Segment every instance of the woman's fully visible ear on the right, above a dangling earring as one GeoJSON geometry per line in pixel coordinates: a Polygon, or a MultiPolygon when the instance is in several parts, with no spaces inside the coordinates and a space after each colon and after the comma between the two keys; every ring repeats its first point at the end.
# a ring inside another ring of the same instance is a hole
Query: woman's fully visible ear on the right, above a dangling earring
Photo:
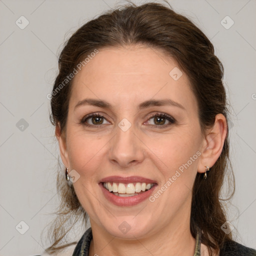
{"type": "Polygon", "coordinates": [[[218,159],[226,137],[227,125],[223,114],[216,114],[213,127],[206,131],[197,171],[205,172],[205,166],[212,167],[218,159]]]}

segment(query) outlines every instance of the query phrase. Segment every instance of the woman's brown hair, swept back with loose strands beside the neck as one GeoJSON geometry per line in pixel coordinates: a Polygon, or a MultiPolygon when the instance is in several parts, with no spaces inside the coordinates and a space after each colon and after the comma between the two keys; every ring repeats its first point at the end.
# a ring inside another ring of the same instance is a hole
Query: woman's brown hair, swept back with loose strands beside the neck
{"type": "MultiPolygon", "coordinates": [[[[226,94],[222,84],[223,67],[214,54],[213,45],[204,33],[188,18],[173,11],[170,6],[153,2],[139,6],[130,3],[109,10],[82,25],[72,34],[61,51],[59,73],[54,82],[50,102],[50,120],[61,133],[65,132],[72,79],[64,85],[63,81],[77,64],[95,49],[130,44],[161,49],[176,60],[180,69],[188,75],[197,99],[202,132],[214,124],[216,114],[221,113],[227,118],[226,94]],[[61,83],[63,86],[57,91],[61,83]]],[[[226,234],[220,228],[226,221],[220,201],[223,200],[220,198],[220,190],[228,163],[230,162],[227,135],[222,152],[207,173],[207,179],[204,180],[203,174],[197,173],[192,190],[190,231],[195,237],[196,226],[201,228],[202,243],[207,245],[210,255],[210,247],[217,252],[225,240],[232,239],[231,233],[226,234]]],[[[232,173],[231,168],[230,170],[232,173]]],[[[72,224],[68,223],[70,217],[73,222],[80,216],[85,222],[88,218],[73,186],[65,182],[62,169],[58,173],[57,189],[61,195],[61,203],[50,230],[53,243],[46,249],[48,253],[68,245],[63,244],[62,239],[71,229],[72,224]]],[[[233,193],[234,189],[231,196],[233,193]]]]}

